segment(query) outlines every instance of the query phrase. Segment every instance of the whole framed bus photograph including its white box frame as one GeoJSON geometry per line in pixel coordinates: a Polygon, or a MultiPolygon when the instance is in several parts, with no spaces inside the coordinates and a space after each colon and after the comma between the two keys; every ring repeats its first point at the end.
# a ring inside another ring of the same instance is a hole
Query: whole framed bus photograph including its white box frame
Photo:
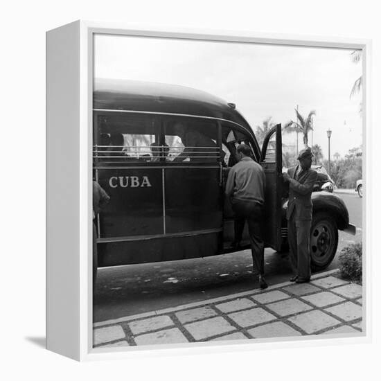
{"type": "Polygon", "coordinates": [[[369,338],[371,42],[84,21],[46,38],[48,349],[369,338]]]}

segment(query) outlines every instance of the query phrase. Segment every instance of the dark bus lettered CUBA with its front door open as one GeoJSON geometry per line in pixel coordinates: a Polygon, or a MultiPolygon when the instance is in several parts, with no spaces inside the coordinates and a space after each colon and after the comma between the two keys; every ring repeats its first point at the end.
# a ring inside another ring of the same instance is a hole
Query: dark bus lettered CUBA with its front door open
{"type": "MultiPolygon", "coordinates": [[[[93,177],[111,197],[96,215],[100,267],[234,251],[233,212],[224,186],[241,143],[265,170],[265,245],[277,251],[285,246],[288,198],[280,124],[260,149],[236,105],[204,91],[105,80],[96,81],[93,101],[93,177]],[[179,123],[199,145],[184,148],[179,123]]],[[[337,195],[313,192],[312,203],[311,263],[319,270],[336,254],[338,229],[355,233],[355,227],[337,195]]],[[[247,229],[241,246],[250,247],[247,229]]]]}

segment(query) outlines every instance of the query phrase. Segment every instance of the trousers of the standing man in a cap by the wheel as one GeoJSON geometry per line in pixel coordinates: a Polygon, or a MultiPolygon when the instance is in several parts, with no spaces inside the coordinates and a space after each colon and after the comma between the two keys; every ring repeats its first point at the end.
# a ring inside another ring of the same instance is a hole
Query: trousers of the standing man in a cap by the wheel
{"type": "Polygon", "coordinates": [[[292,213],[287,221],[290,260],[294,272],[301,279],[311,277],[310,230],[311,220],[296,220],[292,213]]]}

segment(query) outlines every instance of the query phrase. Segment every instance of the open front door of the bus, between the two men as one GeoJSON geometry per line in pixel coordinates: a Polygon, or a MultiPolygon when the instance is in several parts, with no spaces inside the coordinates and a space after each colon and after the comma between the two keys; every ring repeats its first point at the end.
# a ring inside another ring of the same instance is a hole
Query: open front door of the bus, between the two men
{"type": "Polygon", "coordinates": [[[266,192],[263,221],[265,245],[281,249],[282,224],[282,134],[281,125],[272,127],[265,136],[260,153],[260,165],[265,170],[266,192]]]}

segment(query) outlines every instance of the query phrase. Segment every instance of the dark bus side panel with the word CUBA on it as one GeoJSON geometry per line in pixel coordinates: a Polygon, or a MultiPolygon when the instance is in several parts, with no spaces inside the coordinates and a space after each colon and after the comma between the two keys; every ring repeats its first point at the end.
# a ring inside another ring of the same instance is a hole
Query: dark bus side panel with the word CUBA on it
{"type": "Polygon", "coordinates": [[[99,238],[163,233],[163,179],[160,168],[98,170],[111,200],[100,212],[99,238]]]}

